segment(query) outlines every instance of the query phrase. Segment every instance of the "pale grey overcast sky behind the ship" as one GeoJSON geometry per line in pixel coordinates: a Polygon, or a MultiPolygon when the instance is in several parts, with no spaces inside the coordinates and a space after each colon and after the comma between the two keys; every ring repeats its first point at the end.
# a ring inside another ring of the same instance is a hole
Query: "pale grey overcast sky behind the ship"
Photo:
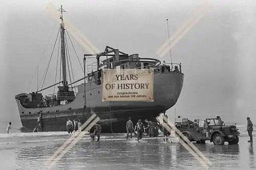
{"type": "MultiPolygon", "coordinates": [[[[49,2],[4,1],[0,7],[0,117],[7,121],[19,118],[14,96],[34,91],[35,68],[40,61],[42,76],[49,61],[59,27],[45,10],[49,2]]],[[[168,37],[166,17],[172,35],[204,2],[51,1],[56,8],[63,5],[65,17],[100,51],[109,45],[150,58],[159,58],[156,51],[168,37]]],[[[182,63],[185,75],[176,114],[191,119],[220,115],[225,122],[243,123],[246,116],[256,120],[256,3],[209,4],[211,10],[172,49],[173,61],[182,63]]],[[[77,43],[75,47],[82,61],[86,52],[77,43]]],[[[72,58],[78,79],[82,71],[76,57],[72,58]]],[[[53,60],[56,62],[56,54],[53,60]]],[[[170,61],[168,53],[163,60],[170,61]]],[[[55,79],[55,67],[49,69],[46,86],[55,79]]]]}

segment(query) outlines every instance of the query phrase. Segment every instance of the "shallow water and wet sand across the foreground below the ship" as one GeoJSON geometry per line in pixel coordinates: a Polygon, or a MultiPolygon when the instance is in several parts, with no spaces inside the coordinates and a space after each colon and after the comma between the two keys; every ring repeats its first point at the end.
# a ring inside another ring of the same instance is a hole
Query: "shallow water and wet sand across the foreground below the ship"
{"type": "MultiPolygon", "coordinates": [[[[0,169],[47,169],[45,162],[68,139],[66,132],[0,134],[0,169]]],[[[194,145],[212,162],[210,169],[256,168],[255,148],[242,133],[238,145],[194,145]]],[[[205,169],[173,139],[125,139],[125,134],[102,134],[82,139],[53,169],[205,169]]]]}

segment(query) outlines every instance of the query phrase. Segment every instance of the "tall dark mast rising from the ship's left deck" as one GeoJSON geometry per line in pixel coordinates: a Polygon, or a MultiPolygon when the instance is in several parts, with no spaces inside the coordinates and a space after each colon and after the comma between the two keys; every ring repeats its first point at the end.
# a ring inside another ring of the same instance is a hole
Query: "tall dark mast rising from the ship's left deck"
{"type": "Polygon", "coordinates": [[[65,34],[65,26],[63,22],[63,15],[62,12],[66,12],[63,8],[62,5],[60,6],[60,9],[58,10],[61,12],[61,23],[60,23],[60,43],[61,43],[61,62],[62,62],[62,84],[63,87],[65,88],[68,84],[67,82],[67,73],[66,73],[66,54],[65,54],[65,39],[64,39],[64,34],[65,34]]]}

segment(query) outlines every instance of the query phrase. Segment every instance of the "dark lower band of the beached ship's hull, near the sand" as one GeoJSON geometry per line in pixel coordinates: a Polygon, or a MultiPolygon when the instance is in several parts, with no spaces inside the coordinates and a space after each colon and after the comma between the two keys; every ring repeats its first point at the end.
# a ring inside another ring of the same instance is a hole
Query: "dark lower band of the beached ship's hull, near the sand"
{"type": "MultiPolygon", "coordinates": [[[[147,109],[133,109],[125,108],[117,111],[108,111],[96,113],[98,117],[101,117],[98,124],[102,126],[102,133],[123,133],[125,132],[125,125],[128,117],[132,117],[134,126],[138,119],[149,119],[156,120],[156,116],[166,108],[147,108],[147,109]],[[128,110],[129,109],[129,110],[128,110]]],[[[113,108],[114,110],[114,108],[113,108]]],[[[45,117],[42,118],[42,125],[44,126],[44,131],[66,131],[66,122],[68,118],[75,119],[79,118],[81,122],[86,122],[86,120],[92,115],[86,112],[86,109],[76,110],[76,113],[66,113],[67,116],[59,117],[45,117]],[[79,113],[78,113],[79,112],[79,113]]],[[[31,132],[37,124],[37,117],[32,119],[22,119],[23,132],[31,132]]]]}

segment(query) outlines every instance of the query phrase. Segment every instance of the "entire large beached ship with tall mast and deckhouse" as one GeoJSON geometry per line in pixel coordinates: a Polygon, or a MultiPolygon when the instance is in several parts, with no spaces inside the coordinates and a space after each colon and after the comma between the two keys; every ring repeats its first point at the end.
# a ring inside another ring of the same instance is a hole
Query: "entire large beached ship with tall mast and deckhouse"
{"type": "Polygon", "coordinates": [[[125,132],[128,117],[132,117],[134,123],[138,119],[155,121],[157,115],[176,104],[183,86],[184,74],[181,72],[181,64],[166,64],[154,58],[140,58],[138,54],[129,55],[110,46],[106,46],[102,53],[84,55],[84,77],[68,83],[66,30],[62,19],[62,7],[60,11],[62,81],[35,92],[15,96],[23,131],[31,132],[38,126],[38,115],[41,115],[44,131],[66,131],[68,118],[72,120],[78,118],[84,123],[96,113],[100,118],[98,123],[102,126],[102,132],[125,132]],[[97,62],[96,69],[88,74],[86,74],[86,56],[96,56],[97,62]],[[154,69],[154,102],[103,102],[102,70],[105,68],[154,69]],[[74,91],[73,85],[78,82],[82,83],[77,85],[77,91],[74,91]],[[57,94],[44,98],[42,91],[56,85],[58,85],[57,94]]]}

